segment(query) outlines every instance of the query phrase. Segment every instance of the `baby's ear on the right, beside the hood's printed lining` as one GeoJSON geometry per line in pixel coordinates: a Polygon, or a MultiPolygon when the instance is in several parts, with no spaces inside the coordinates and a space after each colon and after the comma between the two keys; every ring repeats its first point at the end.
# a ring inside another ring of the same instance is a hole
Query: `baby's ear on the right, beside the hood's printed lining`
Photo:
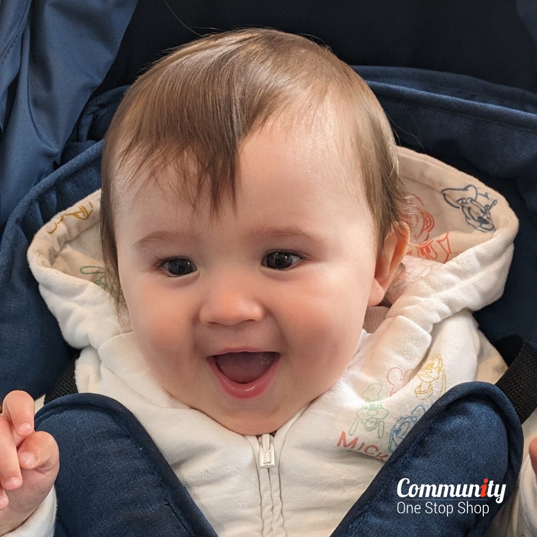
{"type": "Polygon", "coordinates": [[[384,298],[397,267],[407,254],[409,240],[410,229],[404,222],[399,222],[384,240],[376,260],[375,279],[369,293],[368,307],[376,306],[384,298]]]}

